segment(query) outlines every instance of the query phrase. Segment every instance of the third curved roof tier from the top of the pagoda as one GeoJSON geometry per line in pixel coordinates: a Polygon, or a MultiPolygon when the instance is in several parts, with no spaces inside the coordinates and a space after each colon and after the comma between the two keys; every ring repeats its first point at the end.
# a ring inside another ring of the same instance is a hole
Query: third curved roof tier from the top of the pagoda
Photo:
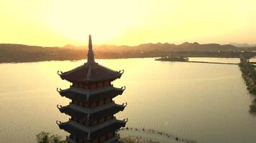
{"type": "Polygon", "coordinates": [[[78,120],[93,121],[101,119],[102,117],[109,117],[109,115],[116,114],[121,112],[127,106],[127,103],[124,104],[115,104],[110,102],[99,107],[86,108],[81,107],[76,104],[69,104],[68,106],[62,107],[58,105],[60,112],[68,114],[70,117],[73,117],[78,120]]]}

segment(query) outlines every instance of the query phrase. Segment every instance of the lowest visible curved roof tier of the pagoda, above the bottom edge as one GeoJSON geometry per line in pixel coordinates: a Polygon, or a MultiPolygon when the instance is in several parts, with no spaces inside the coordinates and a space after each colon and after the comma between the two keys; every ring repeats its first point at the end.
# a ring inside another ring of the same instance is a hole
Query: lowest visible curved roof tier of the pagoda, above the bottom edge
{"type": "Polygon", "coordinates": [[[66,132],[69,132],[70,134],[75,134],[76,137],[81,139],[86,139],[88,141],[93,141],[95,139],[99,139],[104,134],[107,134],[108,132],[115,132],[116,129],[119,129],[121,127],[125,127],[125,124],[127,123],[128,119],[124,120],[117,120],[117,119],[111,119],[107,122],[104,122],[102,124],[98,124],[94,127],[86,127],[82,124],[79,124],[78,122],[69,120],[68,122],[56,122],[60,129],[65,130],[66,132]]]}

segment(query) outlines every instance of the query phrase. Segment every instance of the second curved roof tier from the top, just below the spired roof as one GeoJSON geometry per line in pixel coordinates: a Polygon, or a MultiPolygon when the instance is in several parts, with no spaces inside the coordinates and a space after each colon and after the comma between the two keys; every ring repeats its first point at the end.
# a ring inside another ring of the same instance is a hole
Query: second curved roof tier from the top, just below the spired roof
{"type": "Polygon", "coordinates": [[[114,98],[118,95],[122,95],[125,87],[116,88],[113,86],[103,87],[101,89],[80,89],[77,87],[70,87],[68,89],[58,89],[62,97],[67,97],[68,99],[74,99],[81,102],[93,102],[102,98],[114,98]]]}

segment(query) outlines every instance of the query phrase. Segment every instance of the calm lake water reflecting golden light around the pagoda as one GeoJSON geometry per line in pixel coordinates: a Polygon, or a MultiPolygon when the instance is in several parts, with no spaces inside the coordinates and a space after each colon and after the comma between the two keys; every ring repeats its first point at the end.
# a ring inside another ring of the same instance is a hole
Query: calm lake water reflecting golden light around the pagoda
{"type": "MultiPolygon", "coordinates": [[[[239,62],[239,59],[195,60],[239,62]]],[[[57,71],[67,71],[83,62],[0,64],[0,142],[35,142],[35,134],[41,131],[64,136],[55,121],[66,121],[68,116],[60,114],[56,104],[65,105],[69,100],[60,97],[55,89],[65,89],[69,83],[61,80],[57,71]]],[[[115,101],[128,102],[124,112],[117,115],[119,119],[129,118],[128,127],[171,132],[202,143],[256,142],[256,116],[248,112],[252,96],[247,93],[237,65],[154,59],[98,62],[111,69],[125,70],[114,85],[127,87],[115,101]]]]}

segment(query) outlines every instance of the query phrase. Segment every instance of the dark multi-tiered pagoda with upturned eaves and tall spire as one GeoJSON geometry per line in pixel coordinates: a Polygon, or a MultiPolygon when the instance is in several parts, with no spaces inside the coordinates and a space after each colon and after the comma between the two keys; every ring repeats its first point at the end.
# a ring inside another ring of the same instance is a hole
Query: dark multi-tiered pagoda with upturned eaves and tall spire
{"type": "Polygon", "coordinates": [[[124,70],[114,71],[96,63],[91,35],[87,56],[85,64],[70,71],[58,71],[61,79],[72,84],[68,89],[57,88],[61,97],[71,102],[65,107],[57,105],[60,112],[68,114],[70,119],[68,122],[56,123],[60,129],[70,133],[68,143],[120,142],[116,131],[125,127],[128,119],[118,120],[114,114],[123,111],[127,103],[116,104],[113,98],[121,95],[125,87],[113,87],[111,82],[119,79],[124,70]]]}

